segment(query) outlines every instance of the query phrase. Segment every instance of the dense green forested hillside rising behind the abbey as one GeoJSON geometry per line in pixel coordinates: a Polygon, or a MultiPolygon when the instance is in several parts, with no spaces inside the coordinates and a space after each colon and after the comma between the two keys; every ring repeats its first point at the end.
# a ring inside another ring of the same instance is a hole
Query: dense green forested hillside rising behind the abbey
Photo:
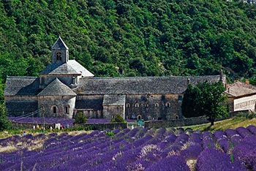
{"type": "Polygon", "coordinates": [[[238,1],[0,0],[0,77],[37,76],[59,37],[96,76],[256,74],[256,7],[238,1]]]}

